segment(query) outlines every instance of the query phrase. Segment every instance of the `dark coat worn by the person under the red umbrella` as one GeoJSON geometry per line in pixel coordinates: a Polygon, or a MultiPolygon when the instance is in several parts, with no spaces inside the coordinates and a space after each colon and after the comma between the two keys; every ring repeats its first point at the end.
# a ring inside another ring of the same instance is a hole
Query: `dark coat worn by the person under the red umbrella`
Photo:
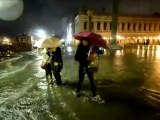
{"type": "Polygon", "coordinates": [[[89,60],[88,60],[89,50],[90,50],[90,46],[83,46],[83,44],[80,43],[78,45],[74,59],[78,61],[80,65],[88,66],[89,65],[89,60]]]}

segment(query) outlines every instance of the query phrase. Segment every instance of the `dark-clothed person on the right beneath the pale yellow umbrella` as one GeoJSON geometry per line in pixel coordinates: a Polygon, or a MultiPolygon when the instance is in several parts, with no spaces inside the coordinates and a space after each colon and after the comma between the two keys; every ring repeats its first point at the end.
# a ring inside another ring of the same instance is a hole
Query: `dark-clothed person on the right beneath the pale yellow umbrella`
{"type": "Polygon", "coordinates": [[[53,75],[56,79],[56,84],[61,85],[62,80],[61,80],[60,72],[63,68],[63,60],[62,60],[62,53],[61,53],[60,47],[57,47],[56,50],[52,52],[51,68],[53,71],[53,75]]]}

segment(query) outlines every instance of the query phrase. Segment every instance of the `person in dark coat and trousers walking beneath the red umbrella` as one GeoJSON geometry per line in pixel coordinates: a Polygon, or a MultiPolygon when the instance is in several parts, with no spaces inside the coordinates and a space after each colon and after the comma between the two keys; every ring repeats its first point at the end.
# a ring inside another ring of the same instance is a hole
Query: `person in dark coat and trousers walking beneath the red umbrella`
{"type": "Polygon", "coordinates": [[[85,74],[88,75],[88,78],[90,80],[92,96],[96,96],[96,86],[94,82],[93,71],[89,68],[89,51],[89,41],[86,39],[81,40],[75,54],[75,60],[79,62],[79,82],[76,90],[77,97],[80,97],[81,95],[80,90],[85,74]]]}

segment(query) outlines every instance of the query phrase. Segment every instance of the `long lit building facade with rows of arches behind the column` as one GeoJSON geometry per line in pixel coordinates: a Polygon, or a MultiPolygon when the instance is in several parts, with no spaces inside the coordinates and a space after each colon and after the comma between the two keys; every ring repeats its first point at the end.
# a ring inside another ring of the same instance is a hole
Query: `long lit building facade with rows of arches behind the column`
{"type": "MultiPolygon", "coordinates": [[[[159,44],[160,17],[158,16],[118,16],[118,44],[159,44]]],[[[112,16],[108,14],[93,14],[91,21],[92,32],[103,36],[107,43],[112,37],[112,16]]],[[[75,18],[75,34],[89,30],[89,16],[77,15],[75,18]]]]}

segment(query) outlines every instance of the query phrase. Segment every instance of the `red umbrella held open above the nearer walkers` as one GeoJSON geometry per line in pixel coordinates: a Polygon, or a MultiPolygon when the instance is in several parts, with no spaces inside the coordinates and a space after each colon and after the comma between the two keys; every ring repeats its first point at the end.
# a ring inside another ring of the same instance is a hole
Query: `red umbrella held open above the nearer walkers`
{"type": "Polygon", "coordinates": [[[73,35],[73,37],[77,40],[87,39],[91,45],[108,48],[102,36],[93,32],[80,32],[73,35]]]}

